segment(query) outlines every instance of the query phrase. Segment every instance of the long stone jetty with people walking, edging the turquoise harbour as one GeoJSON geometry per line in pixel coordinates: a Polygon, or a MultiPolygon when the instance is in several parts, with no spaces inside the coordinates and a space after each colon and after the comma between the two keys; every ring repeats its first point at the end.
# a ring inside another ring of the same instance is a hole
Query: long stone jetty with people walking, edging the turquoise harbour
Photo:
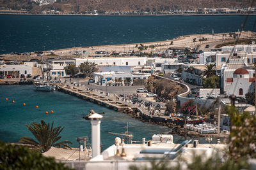
{"type": "MultiPolygon", "coordinates": [[[[120,113],[125,113],[133,118],[137,118],[142,122],[148,122],[150,124],[164,125],[173,128],[173,134],[184,134],[183,122],[177,122],[176,117],[170,117],[165,115],[150,115],[147,107],[143,104],[132,104],[129,101],[122,101],[116,98],[116,94],[106,94],[105,92],[97,91],[96,89],[88,89],[85,85],[74,85],[67,83],[59,83],[56,85],[56,89],[70,94],[72,96],[79,97],[86,101],[105,106],[107,108],[113,109],[120,113]]],[[[86,118],[86,115],[84,116],[86,118]]],[[[208,134],[200,134],[198,132],[188,131],[188,136],[191,134],[193,137],[204,137],[208,134]]],[[[213,137],[217,134],[211,134],[213,137]]],[[[221,134],[222,137],[226,134],[221,134]]]]}

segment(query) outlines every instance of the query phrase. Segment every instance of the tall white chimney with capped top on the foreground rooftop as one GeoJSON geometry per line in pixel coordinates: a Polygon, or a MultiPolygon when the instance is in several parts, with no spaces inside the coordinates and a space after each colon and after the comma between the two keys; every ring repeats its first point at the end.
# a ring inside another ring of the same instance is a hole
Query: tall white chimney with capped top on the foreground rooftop
{"type": "Polygon", "coordinates": [[[102,115],[94,113],[89,117],[92,124],[92,158],[100,155],[100,119],[102,115]]]}

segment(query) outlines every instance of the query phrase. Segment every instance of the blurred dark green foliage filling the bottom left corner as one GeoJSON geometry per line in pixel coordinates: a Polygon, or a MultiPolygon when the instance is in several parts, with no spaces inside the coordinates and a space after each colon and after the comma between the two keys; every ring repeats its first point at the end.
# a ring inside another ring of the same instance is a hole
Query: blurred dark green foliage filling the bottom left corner
{"type": "Polygon", "coordinates": [[[70,169],[51,157],[17,146],[0,142],[0,169],[70,169]]]}

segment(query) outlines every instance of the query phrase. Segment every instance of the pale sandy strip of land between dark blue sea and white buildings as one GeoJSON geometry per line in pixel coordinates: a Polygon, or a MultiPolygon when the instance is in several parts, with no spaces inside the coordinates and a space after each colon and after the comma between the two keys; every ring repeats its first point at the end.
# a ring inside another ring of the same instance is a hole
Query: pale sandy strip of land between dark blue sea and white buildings
{"type": "MultiPolygon", "coordinates": [[[[235,34],[239,34],[239,32],[233,32],[235,34]]],[[[247,39],[255,37],[255,32],[242,32],[239,39],[247,39]]],[[[58,58],[61,59],[70,59],[70,58],[79,58],[79,57],[93,57],[97,55],[98,57],[103,57],[104,54],[96,54],[96,51],[105,51],[109,54],[116,52],[116,53],[123,53],[124,55],[127,54],[129,51],[134,52],[144,52],[144,53],[155,53],[158,51],[163,51],[168,48],[194,48],[195,46],[200,45],[198,48],[199,50],[211,50],[214,48],[215,45],[225,43],[227,41],[234,41],[234,37],[230,36],[229,32],[226,33],[218,33],[218,34],[192,34],[186,36],[180,36],[175,39],[166,39],[166,41],[156,41],[156,42],[148,42],[148,43],[132,43],[132,44],[122,44],[122,45],[102,45],[102,46],[76,46],[73,48],[65,48],[54,50],[55,55],[50,55],[51,52],[44,51],[42,54],[43,59],[47,58],[58,58]],[[199,39],[207,39],[206,41],[199,41],[199,39]],[[195,41],[194,41],[195,39],[195,41]],[[138,47],[147,46],[145,50],[139,50],[138,47]],[[205,45],[209,45],[210,48],[205,48],[205,45]],[[82,55],[74,55],[70,51],[85,51],[82,55]]],[[[2,54],[1,59],[4,60],[18,60],[24,61],[29,59],[42,59],[42,57],[37,56],[36,53],[31,53],[31,55],[21,55],[16,54],[2,54]]],[[[128,55],[127,55],[128,56],[128,55]]],[[[111,56],[110,56],[111,57],[111,56]]]]}

